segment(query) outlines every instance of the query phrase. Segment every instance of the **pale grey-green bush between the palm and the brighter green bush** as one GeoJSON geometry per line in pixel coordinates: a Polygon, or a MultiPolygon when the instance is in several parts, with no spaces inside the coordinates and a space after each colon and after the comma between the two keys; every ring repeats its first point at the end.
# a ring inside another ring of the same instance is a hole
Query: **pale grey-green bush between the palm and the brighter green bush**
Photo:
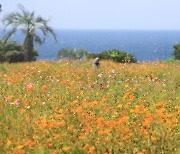
{"type": "Polygon", "coordinates": [[[57,57],[58,59],[85,59],[89,55],[89,52],[85,49],[61,49],[57,57]]]}

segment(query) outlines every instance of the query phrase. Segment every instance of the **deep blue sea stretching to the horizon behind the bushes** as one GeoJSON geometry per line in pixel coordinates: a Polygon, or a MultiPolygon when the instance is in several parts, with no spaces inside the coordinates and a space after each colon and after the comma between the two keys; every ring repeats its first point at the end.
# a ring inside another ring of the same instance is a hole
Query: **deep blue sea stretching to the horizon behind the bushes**
{"type": "MultiPolygon", "coordinates": [[[[180,43],[180,31],[158,30],[56,30],[58,43],[49,36],[44,44],[35,44],[38,59],[57,60],[62,48],[87,49],[101,52],[109,49],[125,50],[139,61],[164,60],[172,58],[173,45],[180,43]]],[[[22,42],[22,35],[14,39],[22,42]]]]}

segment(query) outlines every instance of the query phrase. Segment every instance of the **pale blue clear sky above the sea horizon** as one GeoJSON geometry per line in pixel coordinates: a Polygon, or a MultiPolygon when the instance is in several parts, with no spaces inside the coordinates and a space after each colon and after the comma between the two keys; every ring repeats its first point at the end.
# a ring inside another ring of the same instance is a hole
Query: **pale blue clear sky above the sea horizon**
{"type": "Polygon", "coordinates": [[[3,15],[18,4],[55,29],[180,30],[180,0],[0,0],[3,15]]]}

